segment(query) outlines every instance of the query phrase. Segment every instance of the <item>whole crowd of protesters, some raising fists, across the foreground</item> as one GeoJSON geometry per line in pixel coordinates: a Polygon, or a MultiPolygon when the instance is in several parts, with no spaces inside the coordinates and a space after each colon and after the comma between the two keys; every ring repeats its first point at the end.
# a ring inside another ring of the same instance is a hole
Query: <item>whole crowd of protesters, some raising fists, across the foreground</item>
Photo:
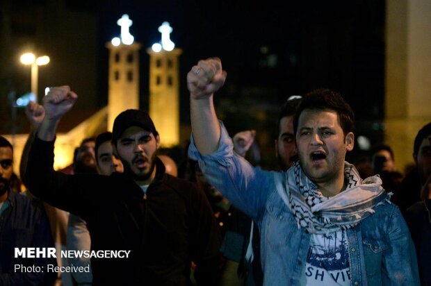
{"type": "Polygon", "coordinates": [[[361,177],[345,160],[352,108],[311,90],[282,106],[279,169],[266,171],[245,156],[259,134],[231,138],[216,115],[226,76],[218,58],[188,72],[184,162],[159,153],[163,134],[147,112],[124,110],[112,133],[86,138],[73,164],[54,170],[56,128],[79,96],[65,85],[29,103],[21,174],[0,136],[0,285],[431,285],[431,122],[407,151],[407,174],[379,142],[372,176],[361,177]],[[62,260],[62,250],[130,255],[62,260]]]}

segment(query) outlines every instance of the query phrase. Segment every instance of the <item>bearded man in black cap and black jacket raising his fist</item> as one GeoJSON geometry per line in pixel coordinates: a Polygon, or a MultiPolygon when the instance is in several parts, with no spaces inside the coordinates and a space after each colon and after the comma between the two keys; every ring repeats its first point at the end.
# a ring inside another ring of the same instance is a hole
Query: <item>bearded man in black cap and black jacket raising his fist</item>
{"type": "Polygon", "coordinates": [[[126,110],[113,124],[113,150],[124,173],[111,176],[56,172],[54,139],[77,95],[68,86],[44,96],[45,117],[31,145],[26,177],[40,199],[82,217],[92,251],[124,251],[122,258],[91,258],[93,285],[217,285],[220,233],[205,194],[165,174],[156,158],[160,136],[147,112],[126,110]]]}

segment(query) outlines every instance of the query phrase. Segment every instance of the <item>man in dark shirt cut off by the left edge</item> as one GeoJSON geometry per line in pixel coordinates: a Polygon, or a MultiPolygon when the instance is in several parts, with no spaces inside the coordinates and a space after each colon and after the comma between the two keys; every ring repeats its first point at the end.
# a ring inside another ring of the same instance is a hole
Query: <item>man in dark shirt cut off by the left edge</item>
{"type": "Polygon", "coordinates": [[[38,201],[10,189],[13,146],[0,136],[0,285],[53,285],[56,258],[25,258],[15,248],[54,248],[51,228],[38,201]]]}

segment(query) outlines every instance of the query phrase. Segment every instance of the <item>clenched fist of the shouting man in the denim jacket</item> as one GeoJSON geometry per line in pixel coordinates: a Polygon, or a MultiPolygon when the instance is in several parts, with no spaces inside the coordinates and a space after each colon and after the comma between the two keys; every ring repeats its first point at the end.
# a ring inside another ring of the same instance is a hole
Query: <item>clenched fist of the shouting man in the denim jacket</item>
{"type": "Polygon", "coordinates": [[[227,73],[220,58],[200,60],[187,74],[187,87],[191,99],[205,99],[225,84],[227,73]]]}

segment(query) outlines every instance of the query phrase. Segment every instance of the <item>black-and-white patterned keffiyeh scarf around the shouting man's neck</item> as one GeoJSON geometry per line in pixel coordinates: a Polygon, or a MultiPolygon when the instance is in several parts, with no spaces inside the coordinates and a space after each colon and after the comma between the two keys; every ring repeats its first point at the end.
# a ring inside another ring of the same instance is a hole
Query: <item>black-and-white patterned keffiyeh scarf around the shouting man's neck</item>
{"type": "Polygon", "coordinates": [[[293,212],[298,228],[314,234],[346,230],[375,212],[377,205],[390,203],[391,193],[384,191],[379,176],[361,180],[355,166],[348,162],[344,166],[347,187],[332,197],[323,196],[298,162],[284,178],[275,177],[277,192],[293,212]]]}

